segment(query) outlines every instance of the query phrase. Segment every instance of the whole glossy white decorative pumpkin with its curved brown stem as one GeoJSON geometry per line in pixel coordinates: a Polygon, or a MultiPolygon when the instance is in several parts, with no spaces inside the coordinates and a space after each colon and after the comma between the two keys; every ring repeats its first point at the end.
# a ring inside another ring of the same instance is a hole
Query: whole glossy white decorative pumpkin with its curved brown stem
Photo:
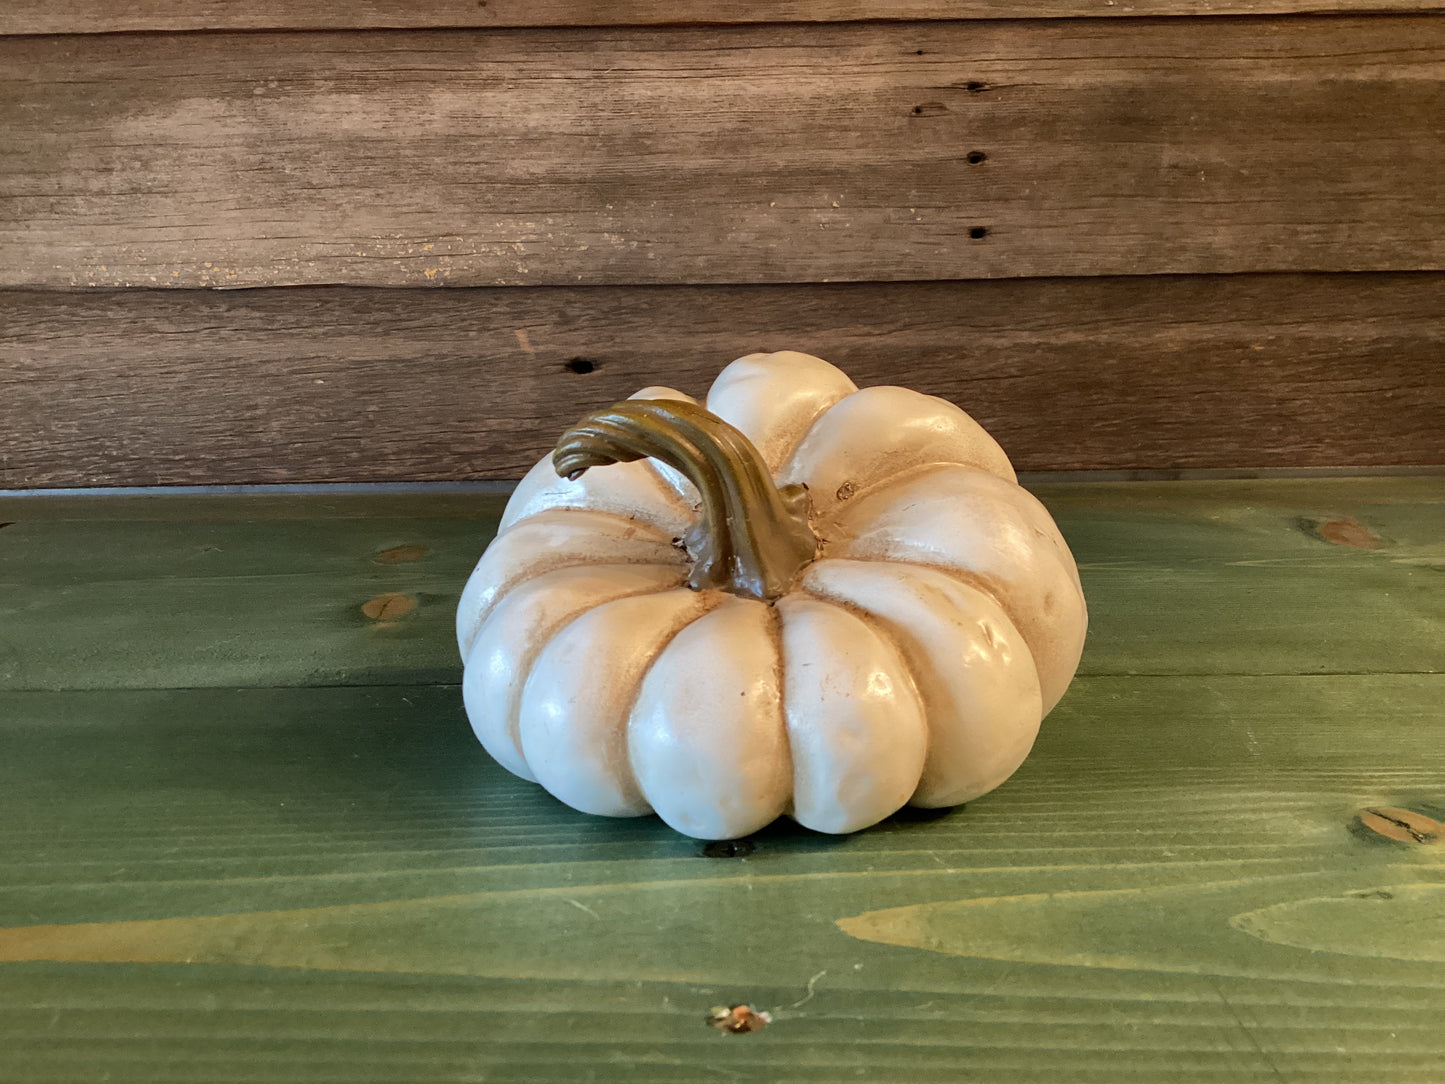
{"type": "Polygon", "coordinates": [[[1085,626],[1068,546],[977,422],[792,351],[734,361],[705,409],[650,387],[582,419],[457,613],[497,762],[708,840],[991,791],[1085,626]]]}

